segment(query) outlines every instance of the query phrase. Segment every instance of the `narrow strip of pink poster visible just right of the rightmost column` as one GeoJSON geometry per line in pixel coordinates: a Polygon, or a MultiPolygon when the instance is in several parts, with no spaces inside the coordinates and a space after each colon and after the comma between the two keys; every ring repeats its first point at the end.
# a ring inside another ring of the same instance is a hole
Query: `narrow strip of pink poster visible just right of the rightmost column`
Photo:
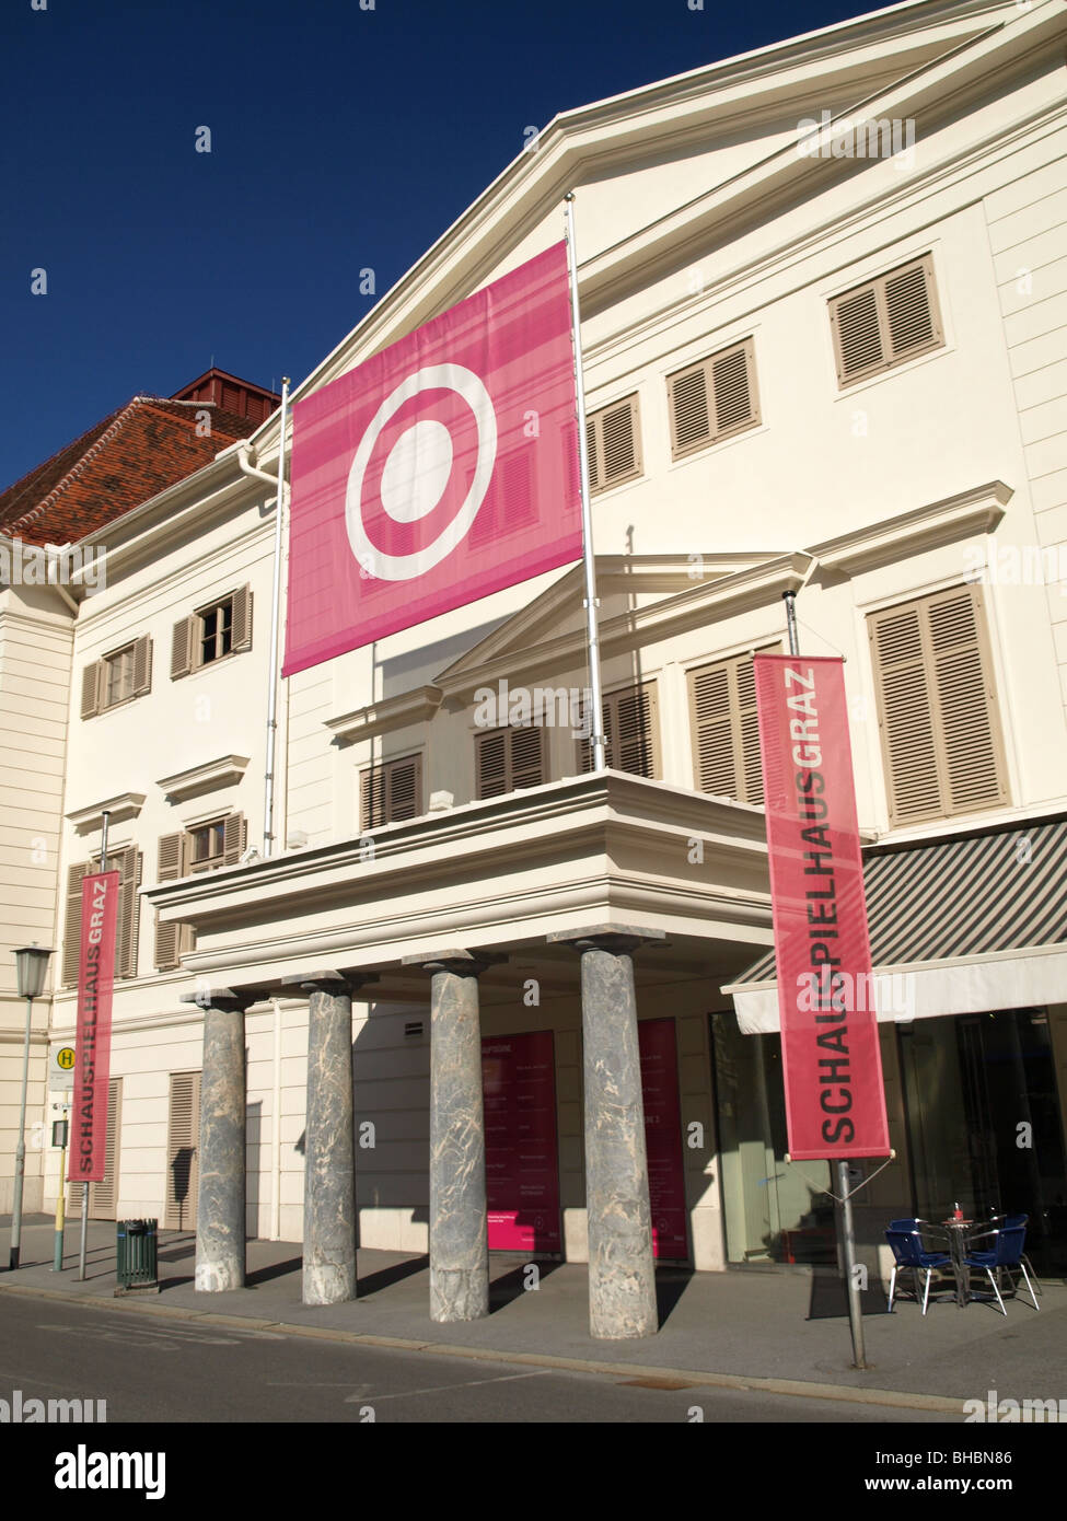
{"type": "Polygon", "coordinates": [[[638,1046],[645,1104],[653,1253],[662,1258],[688,1258],[674,1021],[638,1021],[638,1046]]]}

